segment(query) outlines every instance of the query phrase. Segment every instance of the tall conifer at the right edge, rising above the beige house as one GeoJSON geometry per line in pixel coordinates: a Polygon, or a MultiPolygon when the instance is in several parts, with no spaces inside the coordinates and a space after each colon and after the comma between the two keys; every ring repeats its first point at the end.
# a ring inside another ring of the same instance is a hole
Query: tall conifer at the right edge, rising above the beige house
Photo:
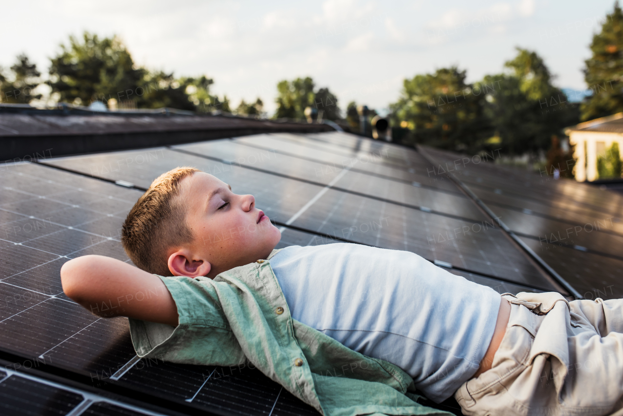
{"type": "Polygon", "coordinates": [[[623,111],[623,12],[619,2],[593,35],[592,57],[584,61],[584,80],[593,94],[581,105],[581,120],[623,111]]]}

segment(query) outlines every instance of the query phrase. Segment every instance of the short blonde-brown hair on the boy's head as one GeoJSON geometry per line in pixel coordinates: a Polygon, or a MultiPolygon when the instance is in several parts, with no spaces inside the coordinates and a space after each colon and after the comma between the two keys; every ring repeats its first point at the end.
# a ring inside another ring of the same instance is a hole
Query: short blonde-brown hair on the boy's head
{"type": "Polygon", "coordinates": [[[169,276],[167,250],[193,241],[179,183],[199,169],[188,166],[161,174],[132,207],[121,227],[121,244],[136,267],[169,276]]]}

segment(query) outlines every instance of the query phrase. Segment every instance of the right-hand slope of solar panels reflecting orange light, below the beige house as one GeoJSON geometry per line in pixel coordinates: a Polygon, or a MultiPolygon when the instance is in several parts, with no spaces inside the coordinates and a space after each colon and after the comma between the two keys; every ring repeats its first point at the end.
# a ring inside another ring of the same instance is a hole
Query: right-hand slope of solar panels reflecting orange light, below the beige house
{"type": "MultiPolygon", "coordinates": [[[[437,150],[426,152],[437,161],[450,158],[437,150]]],[[[492,164],[464,170],[469,174],[460,181],[583,297],[621,297],[621,196],[492,164]],[[509,179],[505,172],[518,180],[504,181],[509,179]]]]}

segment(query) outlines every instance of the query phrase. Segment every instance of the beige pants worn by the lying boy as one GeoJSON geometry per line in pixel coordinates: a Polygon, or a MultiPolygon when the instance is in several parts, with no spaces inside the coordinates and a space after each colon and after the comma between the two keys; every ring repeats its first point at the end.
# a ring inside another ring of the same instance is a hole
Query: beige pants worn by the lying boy
{"type": "Polygon", "coordinates": [[[623,415],[623,299],[505,294],[492,369],[454,397],[465,415],[623,415]]]}

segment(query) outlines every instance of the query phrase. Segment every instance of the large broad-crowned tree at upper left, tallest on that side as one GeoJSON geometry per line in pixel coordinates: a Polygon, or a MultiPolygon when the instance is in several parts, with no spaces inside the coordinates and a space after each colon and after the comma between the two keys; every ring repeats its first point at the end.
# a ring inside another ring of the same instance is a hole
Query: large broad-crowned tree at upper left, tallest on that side
{"type": "Polygon", "coordinates": [[[69,37],[51,59],[50,87],[59,100],[88,105],[93,100],[133,99],[138,95],[145,69],[135,68],[130,52],[117,36],[100,39],[84,32],[82,42],[69,37]]]}

